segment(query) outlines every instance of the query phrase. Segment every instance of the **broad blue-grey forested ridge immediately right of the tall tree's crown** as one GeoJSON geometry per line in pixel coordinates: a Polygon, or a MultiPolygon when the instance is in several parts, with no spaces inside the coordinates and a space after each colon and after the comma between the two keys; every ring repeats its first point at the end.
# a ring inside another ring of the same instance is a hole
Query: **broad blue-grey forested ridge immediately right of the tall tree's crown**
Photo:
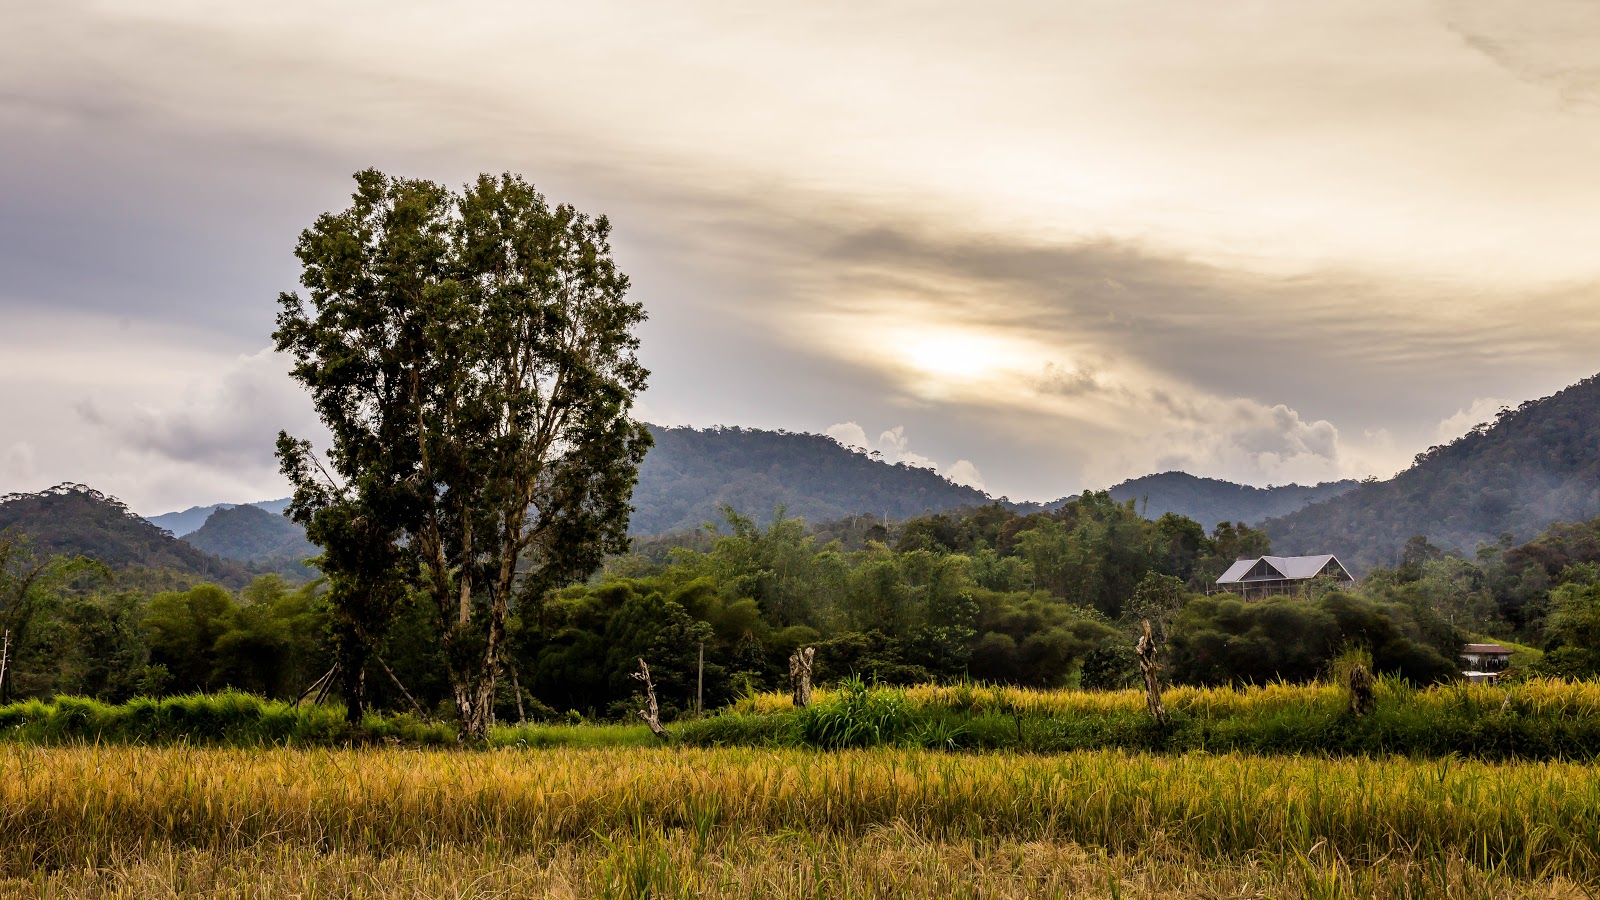
{"type": "Polygon", "coordinates": [[[824,434],[661,426],[650,426],[650,434],[656,445],[634,488],[635,535],[722,520],[723,504],[757,522],[771,520],[776,506],[806,522],[829,522],[859,512],[910,519],[989,503],[978,488],[874,460],[824,434]]]}

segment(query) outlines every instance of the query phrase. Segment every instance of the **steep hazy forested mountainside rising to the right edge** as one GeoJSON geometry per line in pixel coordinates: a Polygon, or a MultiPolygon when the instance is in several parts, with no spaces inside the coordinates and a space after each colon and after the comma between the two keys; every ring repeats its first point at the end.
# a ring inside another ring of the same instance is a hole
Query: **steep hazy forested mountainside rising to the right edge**
{"type": "Polygon", "coordinates": [[[1386,482],[1266,522],[1278,552],[1334,552],[1347,565],[1395,565],[1413,535],[1472,551],[1510,532],[1600,514],[1600,376],[1502,410],[1386,482]]]}

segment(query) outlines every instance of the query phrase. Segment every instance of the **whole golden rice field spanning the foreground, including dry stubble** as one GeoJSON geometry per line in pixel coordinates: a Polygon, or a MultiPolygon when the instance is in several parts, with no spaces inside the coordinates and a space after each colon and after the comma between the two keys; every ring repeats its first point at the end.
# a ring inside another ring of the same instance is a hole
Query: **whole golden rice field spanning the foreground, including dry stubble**
{"type": "Polygon", "coordinates": [[[1586,897],[1600,769],[0,745],[0,894],[1586,897]]]}

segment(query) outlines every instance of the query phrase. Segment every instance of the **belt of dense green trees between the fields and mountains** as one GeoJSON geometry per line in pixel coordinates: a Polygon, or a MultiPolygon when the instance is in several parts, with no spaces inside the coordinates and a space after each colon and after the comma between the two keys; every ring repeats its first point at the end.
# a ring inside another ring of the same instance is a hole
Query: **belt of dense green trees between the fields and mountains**
{"type": "MultiPolygon", "coordinates": [[[[1243,602],[1200,591],[1234,557],[1269,551],[1262,532],[1150,520],[1102,493],[1051,512],[984,506],[899,524],[806,525],[778,512],[766,525],[728,514],[694,540],[640,543],[579,585],[514,604],[512,677],[496,682],[494,714],[632,716],[629,674],[643,657],[670,719],[693,708],[701,645],[707,708],[781,687],[802,645],[818,649],[822,682],[854,673],[883,684],[1114,689],[1138,677],[1146,618],[1179,684],[1307,681],[1349,647],[1429,684],[1454,676],[1472,637],[1515,641],[1520,671],[1600,674],[1600,520],[1472,556],[1414,540],[1402,565],[1355,589],[1243,602]]],[[[14,530],[0,562],[10,698],[237,687],[293,700],[334,660],[326,580],[269,573],[243,589],[150,591],[139,588],[149,570],[40,552],[14,530]]],[[[403,684],[429,714],[458,714],[424,593],[400,597],[374,657],[370,703],[408,709],[403,684]]]]}

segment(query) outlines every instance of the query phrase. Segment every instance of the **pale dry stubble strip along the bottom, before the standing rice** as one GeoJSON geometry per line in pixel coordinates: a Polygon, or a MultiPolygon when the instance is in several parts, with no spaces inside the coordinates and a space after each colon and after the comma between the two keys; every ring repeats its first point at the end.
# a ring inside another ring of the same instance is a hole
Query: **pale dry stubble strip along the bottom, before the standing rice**
{"type": "Polygon", "coordinates": [[[718,847],[675,833],[493,854],[442,847],[386,855],[266,847],[152,849],[106,866],[0,878],[5,897],[88,898],[1522,898],[1590,897],[1563,879],[1533,882],[1459,858],[1392,858],[1352,868],[1310,857],[1194,860],[1158,847],[1107,855],[1048,842],[926,841],[906,828],[862,838],[757,834],[718,847]]]}

